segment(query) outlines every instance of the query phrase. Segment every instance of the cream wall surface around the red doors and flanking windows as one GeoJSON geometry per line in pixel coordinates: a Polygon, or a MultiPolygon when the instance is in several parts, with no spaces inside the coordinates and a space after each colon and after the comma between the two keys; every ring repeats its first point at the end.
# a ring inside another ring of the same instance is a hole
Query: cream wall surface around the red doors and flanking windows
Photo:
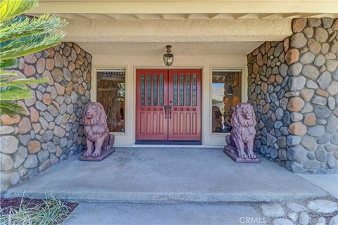
{"type": "Polygon", "coordinates": [[[98,68],[126,68],[125,133],[115,134],[115,145],[132,146],[135,142],[135,104],[137,68],[201,68],[202,69],[202,144],[224,146],[225,134],[211,134],[211,71],[213,68],[242,68],[242,101],[246,101],[246,57],[225,56],[175,56],[174,65],[165,67],[161,56],[93,56],[92,101],[96,101],[96,73],[98,68]]]}

